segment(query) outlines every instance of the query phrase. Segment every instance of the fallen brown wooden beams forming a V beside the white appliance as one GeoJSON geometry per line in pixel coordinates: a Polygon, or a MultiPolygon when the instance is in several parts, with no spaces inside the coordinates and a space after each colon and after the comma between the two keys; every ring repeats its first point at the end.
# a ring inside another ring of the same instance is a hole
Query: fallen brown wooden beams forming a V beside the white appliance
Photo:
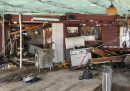
{"type": "Polygon", "coordinates": [[[125,55],[118,55],[111,51],[102,50],[99,48],[91,48],[91,52],[97,54],[98,58],[92,58],[90,61],[92,64],[101,64],[109,62],[123,62],[125,55]]]}

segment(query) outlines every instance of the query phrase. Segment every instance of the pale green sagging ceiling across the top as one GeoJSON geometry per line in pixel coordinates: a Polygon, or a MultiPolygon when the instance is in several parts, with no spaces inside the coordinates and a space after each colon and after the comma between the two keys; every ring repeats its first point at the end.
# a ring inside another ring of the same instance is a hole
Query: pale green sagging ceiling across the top
{"type": "MultiPolygon", "coordinates": [[[[112,0],[118,15],[130,14],[130,0],[112,0]]],[[[106,14],[111,0],[0,0],[1,14],[106,14]]]]}

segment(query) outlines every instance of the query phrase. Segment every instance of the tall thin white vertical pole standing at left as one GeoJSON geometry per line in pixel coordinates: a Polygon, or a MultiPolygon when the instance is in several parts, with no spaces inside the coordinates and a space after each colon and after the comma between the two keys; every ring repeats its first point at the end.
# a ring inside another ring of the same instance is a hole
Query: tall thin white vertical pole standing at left
{"type": "Polygon", "coordinates": [[[20,68],[22,68],[22,15],[19,14],[19,26],[20,26],[20,68]]]}

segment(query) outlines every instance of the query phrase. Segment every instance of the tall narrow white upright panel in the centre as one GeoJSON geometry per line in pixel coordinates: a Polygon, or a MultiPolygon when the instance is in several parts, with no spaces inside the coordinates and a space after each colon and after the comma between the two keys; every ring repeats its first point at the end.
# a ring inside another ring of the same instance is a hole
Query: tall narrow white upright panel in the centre
{"type": "Polygon", "coordinates": [[[52,23],[52,42],[55,44],[54,63],[63,63],[63,23],[52,23]]]}

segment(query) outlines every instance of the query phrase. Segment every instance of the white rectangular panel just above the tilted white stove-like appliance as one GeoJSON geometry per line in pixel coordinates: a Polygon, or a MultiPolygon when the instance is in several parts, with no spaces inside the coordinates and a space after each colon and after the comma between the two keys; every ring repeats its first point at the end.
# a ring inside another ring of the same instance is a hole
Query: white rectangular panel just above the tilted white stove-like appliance
{"type": "Polygon", "coordinates": [[[85,46],[84,38],[82,37],[70,37],[65,38],[66,49],[85,46]]]}

